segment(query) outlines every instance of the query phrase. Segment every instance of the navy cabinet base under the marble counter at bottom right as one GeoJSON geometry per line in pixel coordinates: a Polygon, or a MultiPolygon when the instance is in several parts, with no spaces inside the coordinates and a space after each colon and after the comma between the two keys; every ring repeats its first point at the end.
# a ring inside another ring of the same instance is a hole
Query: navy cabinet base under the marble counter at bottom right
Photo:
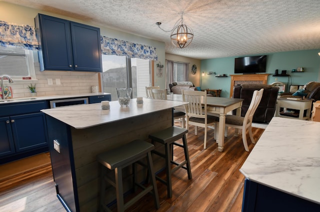
{"type": "Polygon", "coordinates": [[[320,212],[320,205],[246,179],[242,212],[320,212]]]}

